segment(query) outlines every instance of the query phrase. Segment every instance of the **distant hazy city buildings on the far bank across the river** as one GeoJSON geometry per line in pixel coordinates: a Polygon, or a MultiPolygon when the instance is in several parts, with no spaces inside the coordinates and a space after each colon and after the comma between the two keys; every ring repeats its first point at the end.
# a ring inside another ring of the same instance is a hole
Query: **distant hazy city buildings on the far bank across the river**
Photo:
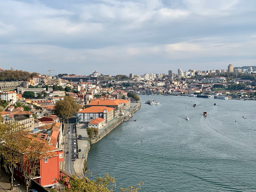
{"type": "Polygon", "coordinates": [[[221,73],[230,72],[234,74],[256,74],[256,67],[243,66],[233,67],[229,64],[226,69],[216,70],[192,70],[182,71],[177,70],[173,73],[172,70],[168,74],[145,73],[144,75],[134,75],[130,73],[130,80],[115,81],[115,88],[126,91],[133,91],[142,94],[199,94],[199,93],[214,93],[214,94],[238,94],[238,96],[248,96],[250,92],[255,92],[255,83],[251,79],[233,78],[227,79],[221,73]],[[160,77],[161,76],[161,77],[160,77]],[[207,78],[205,76],[208,76],[207,78]],[[209,77],[210,76],[210,77],[209,77]],[[240,90],[224,90],[231,84],[245,84],[246,87],[240,90]],[[128,86],[123,86],[128,84],[128,86]],[[214,85],[223,87],[222,91],[214,92],[214,85]]]}

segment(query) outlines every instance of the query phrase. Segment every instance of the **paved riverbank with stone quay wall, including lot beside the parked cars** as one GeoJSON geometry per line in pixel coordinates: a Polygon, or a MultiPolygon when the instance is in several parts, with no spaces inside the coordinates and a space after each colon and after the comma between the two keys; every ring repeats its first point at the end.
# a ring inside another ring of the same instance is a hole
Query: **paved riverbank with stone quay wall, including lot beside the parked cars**
{"type": "Polygon", "coordinates": [[[76,175],[79,178],[83,178],[83,167],[84,162],[87,160],[88,152],[90,149],[90,144],[96,143],[101,138],[103,138],[106,134],[108,134],[111,130],[113,130],[116,126],[118,126],[121,122],[127,121],[129,118],[131,118],[140,107],[141,102],[139,103],[131,103],[134,106],[128,109],[127,115],[124,116],[118,116],[108,122],[103,128],[99,129],[98,136],[93,139],[89,139],[86,132],[87,123],[80,123],[76,126],[77,135],[81,134],[82,138],[77,139],[77,146],[79,149],[81,149],[81,152],[78,152],[78,158],[76,161],[74,161],[74,171],[76,175]]]}

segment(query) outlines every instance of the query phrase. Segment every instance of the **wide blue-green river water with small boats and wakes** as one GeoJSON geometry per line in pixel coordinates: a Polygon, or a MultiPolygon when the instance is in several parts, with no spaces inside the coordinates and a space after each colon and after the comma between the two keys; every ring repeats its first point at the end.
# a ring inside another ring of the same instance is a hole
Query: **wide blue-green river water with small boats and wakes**
{"type": "Polygon", "coordinates": [[[139,96],[134,116],[92,144],[93,176],[108,172],[114,191],[139,181],[140,191],[256,191],[255,100],[139,96]]]}

